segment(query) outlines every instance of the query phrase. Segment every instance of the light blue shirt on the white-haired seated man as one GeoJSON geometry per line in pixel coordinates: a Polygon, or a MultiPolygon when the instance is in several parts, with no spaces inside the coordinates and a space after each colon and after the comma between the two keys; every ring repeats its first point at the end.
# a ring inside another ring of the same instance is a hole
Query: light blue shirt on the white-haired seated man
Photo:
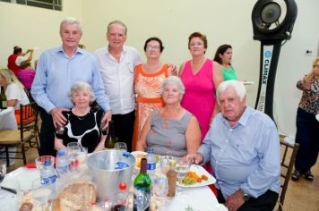
{"type": "Polygon", "coordinates": [[[254,198],[267,190],[280,191],[279,134],[266,114],[246,107],[233,127],[217,114],[198,152],[205,163],[211,160],[224,198],[237,190],[254,198]]]}

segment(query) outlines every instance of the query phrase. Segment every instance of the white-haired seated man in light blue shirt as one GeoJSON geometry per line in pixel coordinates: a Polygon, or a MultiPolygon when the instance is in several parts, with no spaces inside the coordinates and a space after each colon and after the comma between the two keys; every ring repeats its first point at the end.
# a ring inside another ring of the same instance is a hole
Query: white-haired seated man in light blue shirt
{"type": "Polygon", "coordinates": [[[211,123],[195,164],[211,161],[218,199],[229,210],[272,210],[280,191],[280,140],[275,123],[246,106],[246,88],[227,80],[217,89],[221,113],[211,123]]]}

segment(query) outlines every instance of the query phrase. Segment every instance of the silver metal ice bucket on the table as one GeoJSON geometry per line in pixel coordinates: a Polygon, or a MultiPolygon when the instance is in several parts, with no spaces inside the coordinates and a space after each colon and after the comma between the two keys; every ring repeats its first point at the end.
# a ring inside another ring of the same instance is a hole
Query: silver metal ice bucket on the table
{"type": "Polygon", "coordinates": [[[112,200],[116,196],[119,182],[126,182],[127,190],[131,186],[135,157],[128,157],[126,163],[129,167],[117,170],[116,162],[122,155],[122,150],[108,149],[93,153],[86,159],[92,179],[97,185],[99,201],[112,200]]]}

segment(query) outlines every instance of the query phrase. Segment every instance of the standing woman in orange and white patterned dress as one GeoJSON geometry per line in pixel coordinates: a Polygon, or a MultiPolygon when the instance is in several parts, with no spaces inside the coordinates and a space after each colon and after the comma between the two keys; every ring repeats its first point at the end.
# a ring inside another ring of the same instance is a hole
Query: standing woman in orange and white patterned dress
{"type": "Polygon", "coordinates": [[[149,115],[163,107],[160,96],[160,85],[172,75],[175,67],[171,64],[161,63],[160,55],[164,46],[160,38],[148,38],[144,44],[146,63],[135,67],[134,91],[136,98],[136,116],[134,122],[133,150],[142,131],[142,126],[149,115]]]}

